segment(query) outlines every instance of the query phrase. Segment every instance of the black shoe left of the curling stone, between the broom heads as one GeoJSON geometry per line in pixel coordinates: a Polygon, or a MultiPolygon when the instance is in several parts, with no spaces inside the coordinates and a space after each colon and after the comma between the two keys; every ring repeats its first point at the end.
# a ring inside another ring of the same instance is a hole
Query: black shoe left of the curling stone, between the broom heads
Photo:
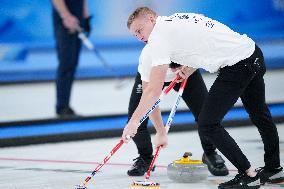
{"type": "MultiPolygon", "coordinates": [[[[149,169],[149,166],[152,162],[153,157],[150,158],[142,158],[139,156],[138,158],[133,159],[134,164],[132,167],[127,171],[129,176],[143,176],[149,169]]],[[[155,166],[151,171],[155,170],[155,166]]]]}

